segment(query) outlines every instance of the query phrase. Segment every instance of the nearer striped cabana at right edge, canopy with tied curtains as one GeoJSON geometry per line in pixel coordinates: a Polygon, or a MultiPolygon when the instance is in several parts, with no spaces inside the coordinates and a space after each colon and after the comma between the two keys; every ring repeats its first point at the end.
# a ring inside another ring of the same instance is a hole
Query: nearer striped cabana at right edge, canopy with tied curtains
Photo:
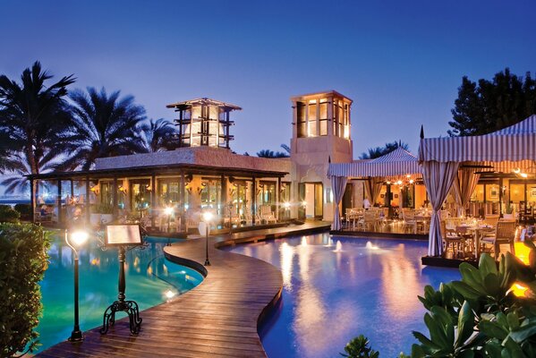
{"type": "Polygon", "coordinates": [[[475,181],[477,170],[534,173],[535,158],[536,115],[486,135],[425,139],[421,132],[419,162],[432,206],[429,256],[443,253],[438,210],[456,180],[459,187],[455,191],[462,188],[462,196],[469,198],[471,186],[474,189],[478,182],[478,178],[475,181]],[[458,175],[460,169],[465,175],[458,175]]]}

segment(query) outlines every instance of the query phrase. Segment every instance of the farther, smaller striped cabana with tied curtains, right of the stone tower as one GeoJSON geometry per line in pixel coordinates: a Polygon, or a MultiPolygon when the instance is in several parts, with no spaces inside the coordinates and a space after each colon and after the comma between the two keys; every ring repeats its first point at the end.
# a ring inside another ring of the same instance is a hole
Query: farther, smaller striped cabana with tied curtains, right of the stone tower
{"type": "Polygon", "coordinates": [[[331,179],[335,205],[332,230],[340,230],[342,227],[338,207],[345,194],[348,178],[366,178],[365,192],[374,202],[384,180],[401,175],[410,175],[413,179],[421,176],[417,157],[401,147],[379,158],[354,160],[351,163],[330,163],[328,176],[331,179]]]}

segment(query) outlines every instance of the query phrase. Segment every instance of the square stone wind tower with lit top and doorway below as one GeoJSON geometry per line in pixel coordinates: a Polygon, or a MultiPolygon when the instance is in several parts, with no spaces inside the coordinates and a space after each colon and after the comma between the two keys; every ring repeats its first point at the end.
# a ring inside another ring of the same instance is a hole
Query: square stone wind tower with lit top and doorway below
{"type": "Polygon", "coordinates": [[[291,98],[293,181],[298,183],[298,217],[333,219],[333,193],[328,179],[328,161],[351,162],[352,99],[335,90],[291,98]]]}

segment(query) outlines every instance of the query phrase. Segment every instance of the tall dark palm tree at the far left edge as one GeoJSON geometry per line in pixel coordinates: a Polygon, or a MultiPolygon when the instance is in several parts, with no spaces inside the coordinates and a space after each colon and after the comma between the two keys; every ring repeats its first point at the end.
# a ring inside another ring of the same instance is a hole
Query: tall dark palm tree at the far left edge
{"type": "Polygon", "coordinates": [[[21,83],[0,76],[0,129],[12,143],[4,168],[15,175],[2,182],[5,192],[22,190],[28,183],[24,175],[52,168],[64,153],[71,121],[64,96],[75,79],[65,76],[46,85],[52,77],[39,62],[22,72],[21,83]]]}

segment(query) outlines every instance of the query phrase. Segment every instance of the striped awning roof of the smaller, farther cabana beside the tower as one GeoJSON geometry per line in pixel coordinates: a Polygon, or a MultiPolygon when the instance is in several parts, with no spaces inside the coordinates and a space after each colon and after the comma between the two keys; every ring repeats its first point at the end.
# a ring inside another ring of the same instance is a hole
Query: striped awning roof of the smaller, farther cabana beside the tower
{"type": "Polygon", "coordinates": [[[417,158],[409,151],[397,148],[375,159],[354,160],[351,163],[331,163],[328,176],[368,177],[421,174],[417,158]]]}

